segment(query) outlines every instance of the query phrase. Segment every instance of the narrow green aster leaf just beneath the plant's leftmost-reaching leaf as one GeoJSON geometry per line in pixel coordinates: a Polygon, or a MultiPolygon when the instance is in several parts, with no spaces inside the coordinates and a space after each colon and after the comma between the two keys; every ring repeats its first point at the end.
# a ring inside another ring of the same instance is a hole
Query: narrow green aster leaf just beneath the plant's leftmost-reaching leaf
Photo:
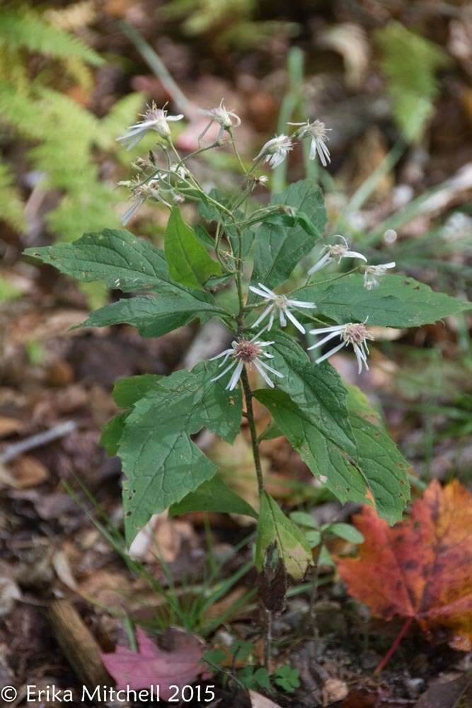
{"type": "Polygon", "coordinates": [[[92,312],[79,327],[105,327],[131,324],[143,337],[161,337],[201,314],[221,313],[216,304],[202,302],[191,295],[142,295],[121,299],[92,312]]]}

